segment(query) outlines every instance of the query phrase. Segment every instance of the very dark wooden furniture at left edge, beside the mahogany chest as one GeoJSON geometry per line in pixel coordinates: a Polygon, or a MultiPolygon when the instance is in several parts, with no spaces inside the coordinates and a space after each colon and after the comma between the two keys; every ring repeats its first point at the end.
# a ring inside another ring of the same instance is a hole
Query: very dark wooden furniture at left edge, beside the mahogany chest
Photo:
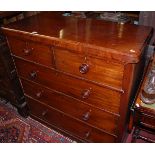
{"type": "Polygon", "coordinates": [[[17,107],[22,116],[26,117],[28,115],[24,93],[7,41],[2,34],[0,34],[0,97],[10,101],[11,104],[17,107]]]}

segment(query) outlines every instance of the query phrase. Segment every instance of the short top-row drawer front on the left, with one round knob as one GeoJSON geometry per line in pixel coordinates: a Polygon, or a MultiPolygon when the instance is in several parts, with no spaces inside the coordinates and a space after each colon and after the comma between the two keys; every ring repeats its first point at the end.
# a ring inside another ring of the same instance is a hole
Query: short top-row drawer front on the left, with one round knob
{"type": "Polygon", "coordinates": [[[53,67],[53,52],[49,46],[28,40],[8,38],[13,55],[53,67]]]}

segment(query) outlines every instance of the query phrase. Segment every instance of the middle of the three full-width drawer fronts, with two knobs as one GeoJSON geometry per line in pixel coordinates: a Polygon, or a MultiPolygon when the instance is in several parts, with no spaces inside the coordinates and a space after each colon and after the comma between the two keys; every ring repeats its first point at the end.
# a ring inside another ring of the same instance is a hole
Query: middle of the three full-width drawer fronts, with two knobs
{"type": "Polygon", "coordinates": [[[116,134],[118,116],[97,108],[88,106],[69,96],[44,88],[41,85],[21,80],[25,94],[37,99],[53,108],[69,114],[81,121],[101,128],[109,133],[116,134]]]}

